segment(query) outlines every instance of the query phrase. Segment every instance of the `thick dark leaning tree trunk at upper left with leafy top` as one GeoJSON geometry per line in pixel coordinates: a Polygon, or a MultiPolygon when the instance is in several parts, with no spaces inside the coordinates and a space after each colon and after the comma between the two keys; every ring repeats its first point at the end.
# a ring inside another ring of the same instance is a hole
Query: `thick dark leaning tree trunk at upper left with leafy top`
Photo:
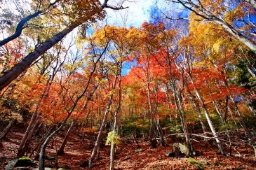
{"type": "Polygon", "coordinates": [[[41,55],[43,55],[46,50],[50,49],[62,40],[69,32],[73,31],[76,27],[79,27],[81,24],[90,24],[90,22],[95,22],[95,20],[102,20],[105,16],[103,9],[104,8],[112,8],[112,9],[123,9],[121,7],[113,7],[107,5],[108,0],[105,0],[104,3],[100,6],[100,1],[88,1],[88,0],[79,0],[76,3],[71,3],[72,6],[70,8],[76,13],[72,13],[69,11],[71,23],[69,26],[58,34],[55,34],[47,41],[44,41],[36,47],[32,52],[29,53],[22,61],[13,66],[11,70],[4,73],[0,78],[0,90],[3,90],[8,84],[10,84],[15,78],[18,78],[22,72],[31,66],[31,64],[38,59],[41,55]],[[89,4],[89,6],[87,5],[89,4]]]}

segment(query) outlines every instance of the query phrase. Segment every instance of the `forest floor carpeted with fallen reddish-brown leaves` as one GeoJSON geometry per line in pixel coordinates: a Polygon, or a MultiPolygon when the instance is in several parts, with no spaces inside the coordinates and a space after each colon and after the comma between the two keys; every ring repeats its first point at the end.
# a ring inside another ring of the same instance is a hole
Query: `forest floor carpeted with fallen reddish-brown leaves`
{"type": "MultiPolygon", "coordinates": [[[[23,134],[24,129],[12,129],[7,139],[0,143],[0,169],[4,169],[8,161],[15,159],[23,134]]],[[[58,156],[59,167],[88,169],[81,167],[81,164],[88,162],[92,148],[89,146],[88,139],[82,141],[81,135],[78,134],[79,131],[74,129],[69,136],[65,154],[58,156]]],[[[64,133],[60,133],[55,137],[57,146],[60,146],[64,135],[64,133]]],[[[236,151],[233,151],[233,155],[239,152],[243,157],[230,157],[218,155],[217,149],[207,146],[204,141],[194,142],[195,150],[202,153],[201,156],[194,157],[194,160],[207,162],[207,164],[196,166],[197,163],[192,164],[190,158],[166,157],[166,151],[172,150],[173,143],[174,141],[169,141],[166,147],[157,146],[157,148],[152,149],[149,143],[142,142],[139,143],[140,150],[137,150],[136,143],[123,143],[118,146],[114,167],[115,169],[256,169],[256,158],[252,148],[248,146],[236,146],[236,151]]],[[[54,148],[47,148],[46,154],[54,155],[54,148]]],[[[95,159],[93,169],[109,169],[109,148],[109,146],[104,146],[101,149],[100,157],[95,159]]],[[[54,162],[46,160],[46,167],[52,167],[54,162]]]]}

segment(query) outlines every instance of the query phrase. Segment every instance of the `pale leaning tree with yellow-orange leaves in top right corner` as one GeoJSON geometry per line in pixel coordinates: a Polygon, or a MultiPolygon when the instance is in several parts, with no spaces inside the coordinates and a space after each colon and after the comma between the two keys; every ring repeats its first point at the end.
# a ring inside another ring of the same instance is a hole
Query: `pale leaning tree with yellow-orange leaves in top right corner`
{"type": "Polygon", "coordinates": [[[255,23],[251,20],[251,17],[253,17],[255,11],[255,1],[248,1],[251,6],[247,6],[248,3],[246,3],[246,1],[166,1],[182,4],[184,8],[198,16],[196,18],[198,21],[205,20],[220,25],[225,31],[231,34],[231,36],[241,41],[241,43],[245,44],[250,50],[256,52],[256,44],[254,43],[253,36],[250,36],[250,34],[254,34],[253,28],[255,23]],[[225,6],[226,3],[230,5],[225,6]],[[231,4],[234,8],[231,8],[231,4]],[[248,15],[248,17],[246,15],[248,15]],[[242,20],[242,22],[237,24],[239,20],[242,20]],[[244,26],[252,27],[252,29],[241,30],[241,27],[238,25],[242,25],[242,28],[244,26]]]}

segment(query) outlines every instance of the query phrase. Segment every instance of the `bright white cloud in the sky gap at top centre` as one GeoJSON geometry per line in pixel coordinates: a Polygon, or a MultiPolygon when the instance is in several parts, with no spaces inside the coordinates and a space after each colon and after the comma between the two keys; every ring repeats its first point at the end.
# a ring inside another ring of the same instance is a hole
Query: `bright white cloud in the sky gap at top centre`
{"type": "MultiPolygon", "coordinates": [[[[120,0],[119,0],[120,1],[120,0]]],[[[109,5],[114,6],[116,1],[109,1],[109,5]]],[[[134,0],[126,1],[123,7],[128,6],[124,10],[112,10],[107,8],[107,24],[115,24],[121,27],[140,27],[143,22],[150,19],[150,8],[154,6],[153,0],[134,0]]]]}

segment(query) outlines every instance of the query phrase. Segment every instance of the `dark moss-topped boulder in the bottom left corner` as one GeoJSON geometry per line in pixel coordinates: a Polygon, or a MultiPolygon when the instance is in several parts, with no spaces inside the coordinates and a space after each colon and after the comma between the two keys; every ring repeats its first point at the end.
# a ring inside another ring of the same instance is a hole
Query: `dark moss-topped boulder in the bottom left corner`
{"type": "Polygon", "coordinates": [[[34,163],[29,157],[20,157],[16,160],[11,160],[6,165],[6,170],[11,170],[15,167],[36,167],[37,164],[34,163]]]}

